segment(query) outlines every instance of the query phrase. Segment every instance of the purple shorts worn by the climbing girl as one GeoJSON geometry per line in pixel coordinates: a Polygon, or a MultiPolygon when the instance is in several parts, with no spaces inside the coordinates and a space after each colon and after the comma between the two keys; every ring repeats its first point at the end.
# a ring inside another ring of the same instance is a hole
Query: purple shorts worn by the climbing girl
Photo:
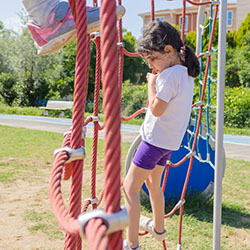
{"type": "Polygon", "coordinates": [[[155,168],[155,165],[165,166],[171,152],[171,150],[159,148],[141,141],[132,162],[137,167],[152,170],[155,168]]]}

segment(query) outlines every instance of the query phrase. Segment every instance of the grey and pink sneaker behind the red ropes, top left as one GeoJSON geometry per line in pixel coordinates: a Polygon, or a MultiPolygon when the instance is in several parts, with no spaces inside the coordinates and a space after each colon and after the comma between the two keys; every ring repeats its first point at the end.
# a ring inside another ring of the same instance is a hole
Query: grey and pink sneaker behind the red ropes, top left
{"type": "MultiPolygon", "coordinates": [[[[118,5],[117,19],[125,14],[125,8],[118,5]]],[[[100,8],[87,7],[87,31],[92,33],[100,30],[100,8]]],[[[34,21],[29,21],[27,27],[34,39],[38,55],[50,54],[76,38],[74,17],[68,2],[60,2],[51,12],[47,25],[40,27],[34,21]]]]}

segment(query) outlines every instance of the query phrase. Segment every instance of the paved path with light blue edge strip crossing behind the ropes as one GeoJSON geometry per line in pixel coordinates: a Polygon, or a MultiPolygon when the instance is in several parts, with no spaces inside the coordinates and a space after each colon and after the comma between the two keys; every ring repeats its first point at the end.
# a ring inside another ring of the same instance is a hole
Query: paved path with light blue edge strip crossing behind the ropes
{"type": "MultiPolygon", "coordinates": [[[[64,133],[69,130],[71,119],[0,114],[0,125],[64,133]]],[[[139,126],[122,124],[121,131],[122,141],[132,142],[139,126]]],[[[92,123],[87,126],[87,137],[93,137],[92,123]]],[[[99,138],[104,138],[104,130],[100,131],[99,138]]],[[[226,157],[250,162],[250,137],[225,135],[224,149],[226,157]]]]}

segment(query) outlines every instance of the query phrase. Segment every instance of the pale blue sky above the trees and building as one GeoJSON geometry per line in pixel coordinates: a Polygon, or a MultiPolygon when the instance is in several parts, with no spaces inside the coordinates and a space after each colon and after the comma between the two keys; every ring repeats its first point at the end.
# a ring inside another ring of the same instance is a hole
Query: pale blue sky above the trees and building
{"type": "MultiPolygon", "coordinates": [[[[20,32],[21,21],[18,13],[24,9],[21,0],[0,0],[4,4],[1,5],[0,20],[8,29],[20,32]]],[[[100,1],[98,1],[100,3],[100,1]]],[[[228,2],[236,2],[236,0],[228,0],[228,2]]],[[[87,0],[87,5],[92,6],[93,1],[87,0]]],[[[150,0],[123,0],[122,4],[126,8],[126,14],[123,17],[123,27],[138,39],[142,35],[142,18],[138,16],[140,13],[151,11],[150,0]]],[[[182,0],[155,0],[155,10],[173,9],[182,7],[182,0]]]]}

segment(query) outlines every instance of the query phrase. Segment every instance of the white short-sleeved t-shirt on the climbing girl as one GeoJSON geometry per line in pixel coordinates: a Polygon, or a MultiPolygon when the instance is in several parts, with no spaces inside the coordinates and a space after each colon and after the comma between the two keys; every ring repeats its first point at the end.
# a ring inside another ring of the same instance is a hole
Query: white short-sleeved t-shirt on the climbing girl
{"type": "Polygon", "coordinates": [[[147,110],[140,129],[142,139],[160,148],[178,150],[191,114],[194,79],[185,66],[175,65],[159,74],[155,88],[167,108],[160,117],[147,110]]]}

